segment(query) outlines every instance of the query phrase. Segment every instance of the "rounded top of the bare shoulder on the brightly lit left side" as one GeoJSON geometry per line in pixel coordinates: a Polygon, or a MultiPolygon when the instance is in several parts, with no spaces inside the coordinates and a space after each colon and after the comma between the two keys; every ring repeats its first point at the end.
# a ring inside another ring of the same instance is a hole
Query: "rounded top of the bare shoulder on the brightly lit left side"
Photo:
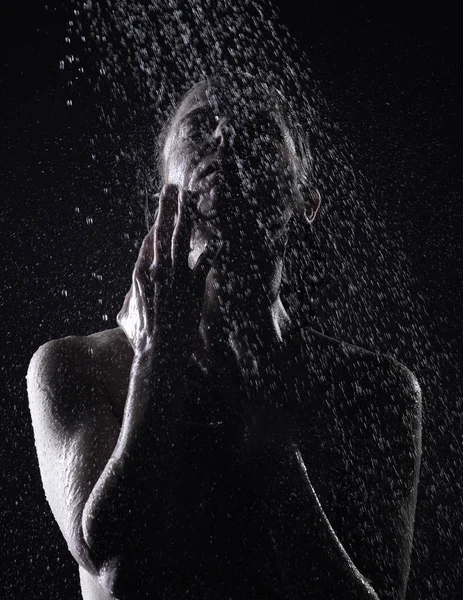
{"type": "Polygon", "coordinates": [[[50,401],[57,401],[66,397],[65,392],[85,385],[95,392],[108,393],[116,404],[123,403],[132,358],[130,343],[120,328],[50,340],[38,348],[30,361],[29,399],[33,402],[35,395],[46,390],[50,401]]]}

